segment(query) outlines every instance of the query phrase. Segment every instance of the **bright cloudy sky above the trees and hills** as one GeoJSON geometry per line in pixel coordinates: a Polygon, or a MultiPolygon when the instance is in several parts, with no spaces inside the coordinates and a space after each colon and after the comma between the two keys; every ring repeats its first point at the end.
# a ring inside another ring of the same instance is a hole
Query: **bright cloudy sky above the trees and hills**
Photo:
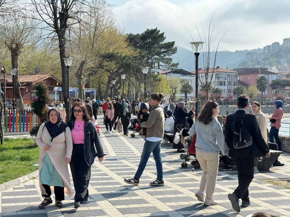
{"type": "Polygon", "coordinates": [[[137,34],[157,27],[165,33],[167,41],[187,49],[191,49],[189,42],[200,41],[198,31],[201,41],[208,42],[213,14],[210,51],[217,47],[229,51],[263,48],[290,38],[288,0],[107,0],[107,3],[114,5],[116,24],[126,33],[137,34]]]}

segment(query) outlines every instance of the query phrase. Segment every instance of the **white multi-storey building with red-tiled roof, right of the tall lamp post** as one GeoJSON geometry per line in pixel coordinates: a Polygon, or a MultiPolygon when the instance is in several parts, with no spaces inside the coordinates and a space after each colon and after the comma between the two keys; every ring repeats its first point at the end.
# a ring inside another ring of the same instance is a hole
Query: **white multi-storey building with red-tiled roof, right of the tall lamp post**
{"type": "MultiPolygon", "coordinates": [[[[233,89],[237,87],[238,72],[229,69],[223,69],[219,66],[217,66],[215,69],[209,69],[209,72],[213,72],[211,86],[221,88],[223,90],[223,97],[226,97],[229,93],[232,94],[233,89]]],[[[200,76],[200,81],[205,82],[205,70],[199,68],[198,73],[200,76]]],[[[209,73],[209,76],[211,76],[211,73],[209,73]]]]}

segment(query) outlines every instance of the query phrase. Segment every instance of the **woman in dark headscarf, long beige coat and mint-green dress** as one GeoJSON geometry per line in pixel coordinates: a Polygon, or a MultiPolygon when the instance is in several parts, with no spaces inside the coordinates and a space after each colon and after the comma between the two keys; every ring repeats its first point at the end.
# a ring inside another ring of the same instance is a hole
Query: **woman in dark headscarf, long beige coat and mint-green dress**
{"type": "Polygon", "coordinates": [[[36,144],[39,152],[39,187],[44,200],[39,208],[52,203],[50,186],[54,186],[55,205],[62,206],[64,187],[68,196],[75,192],[70,186],[68,163],[70,162],[73,141],[68,126],[60,117],[58,109],[48,111],[49,121],[39,127],[36,144]]]}

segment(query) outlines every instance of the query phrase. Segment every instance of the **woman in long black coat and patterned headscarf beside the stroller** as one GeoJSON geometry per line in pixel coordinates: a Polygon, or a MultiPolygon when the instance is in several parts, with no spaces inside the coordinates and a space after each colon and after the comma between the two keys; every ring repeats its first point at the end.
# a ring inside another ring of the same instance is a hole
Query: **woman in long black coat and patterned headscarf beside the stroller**
{"type": "MultiPolygon", "coordinates": [[[[195,107],[193,107],[191,109],[191,111],[189,111],[189,113],[187,113],[186,111],[184,111],[184,107],[185,107],[185,103],[184,102],[178,102],[177,103],[177,108],[174,111],[174,117],[175,117],[175,121],[174,121],[174,136],[176,134],[177,128],[179,129],[183,129],[187,127],[187,121],[186,121],[186,117],[189,117],[193,114],[193,112],[195,111],[195,107]]],[[[175,144],[173,143],[173,149],[177,149],[177,152],[185,152],[182,148],[183,148],[183,144],[181,142],[175,144]]]]}

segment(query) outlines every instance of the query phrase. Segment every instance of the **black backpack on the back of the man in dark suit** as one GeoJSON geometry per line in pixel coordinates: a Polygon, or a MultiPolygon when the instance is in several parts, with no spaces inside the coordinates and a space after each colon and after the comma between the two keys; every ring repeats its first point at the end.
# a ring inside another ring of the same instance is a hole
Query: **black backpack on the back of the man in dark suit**
{"type": "Polygon", "coordinates": [[[235,149],[246,148],[253,144],[253,138],[244,123],[244,118],[251,113],[245,113],[241,119],[234,121],[232,126],[233,146],[235,149]]]}

